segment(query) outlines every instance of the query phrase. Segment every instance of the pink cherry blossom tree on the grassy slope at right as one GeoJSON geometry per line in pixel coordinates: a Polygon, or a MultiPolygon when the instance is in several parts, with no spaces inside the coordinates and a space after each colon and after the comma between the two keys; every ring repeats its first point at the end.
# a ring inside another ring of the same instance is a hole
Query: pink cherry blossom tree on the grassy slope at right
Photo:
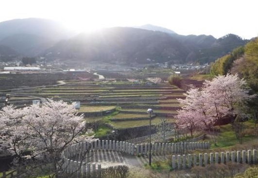
{"type": "MultiPolygon", "coordinates": [[[[238,75],[219,75],[205,81],[201,89],[190,89],[186,99],[178,99],[182,109],[176,116],[176,124],[188,128],[214,129],[225,116],[236,118],[239,109],[254,95],[248,95],[246,82],[238,75]]],[[[216,142],[215,142],[216,143],[216,142]]]]}

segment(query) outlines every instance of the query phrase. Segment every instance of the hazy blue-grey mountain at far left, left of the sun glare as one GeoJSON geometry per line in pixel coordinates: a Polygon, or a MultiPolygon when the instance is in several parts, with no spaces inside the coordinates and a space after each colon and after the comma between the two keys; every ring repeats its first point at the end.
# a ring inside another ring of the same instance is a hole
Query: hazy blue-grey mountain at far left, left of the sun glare
{"type": "Polygon", "coordinates": [[[0,45],[21,55],[36,56],[60,39],[72,34],[56,21],[41,18],[14,19],[0,22],[0,45]]]}

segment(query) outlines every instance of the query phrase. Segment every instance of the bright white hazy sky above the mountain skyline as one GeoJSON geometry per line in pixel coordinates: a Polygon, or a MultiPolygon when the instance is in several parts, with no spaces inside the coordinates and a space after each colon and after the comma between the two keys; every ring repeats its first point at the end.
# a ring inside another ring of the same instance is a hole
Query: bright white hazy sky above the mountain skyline
{"type": "Polygon", "coordinates": [[[256,0],[1,0],[0,21],[49,18],[77,31],[153,24],[180,35],[258,36],[256,0]]]}

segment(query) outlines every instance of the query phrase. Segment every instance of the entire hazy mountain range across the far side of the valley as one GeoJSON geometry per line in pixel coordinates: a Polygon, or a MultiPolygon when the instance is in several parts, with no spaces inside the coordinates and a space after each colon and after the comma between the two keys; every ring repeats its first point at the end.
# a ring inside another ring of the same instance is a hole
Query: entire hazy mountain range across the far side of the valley
{"type": "Polygon", "coordinates": [[[215,61],[246,42],[232,34],[219,39],[206,35],[182,36],[149,24],[138,28],[106,28],[74,36],[57,22],[47,19],[0,22],[0,45],[12,49],[10,56],[15,51],[19,56],[45,56],[49,60],[78,59],[126,65],[203,64],[215,61]]]}

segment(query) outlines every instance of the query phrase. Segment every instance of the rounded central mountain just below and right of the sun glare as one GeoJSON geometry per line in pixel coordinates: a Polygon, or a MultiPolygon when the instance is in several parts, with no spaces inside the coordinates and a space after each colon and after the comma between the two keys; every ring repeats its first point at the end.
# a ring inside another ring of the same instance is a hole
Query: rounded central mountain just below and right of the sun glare
{"type": "Polygon", "coordinates": [[[189,52],[167,33],[114,27],[61,41],[48,49],[46,54],[49,57],[81,58],[114,64],[148,64],[170,60],[183,63],[189,52]]]}

